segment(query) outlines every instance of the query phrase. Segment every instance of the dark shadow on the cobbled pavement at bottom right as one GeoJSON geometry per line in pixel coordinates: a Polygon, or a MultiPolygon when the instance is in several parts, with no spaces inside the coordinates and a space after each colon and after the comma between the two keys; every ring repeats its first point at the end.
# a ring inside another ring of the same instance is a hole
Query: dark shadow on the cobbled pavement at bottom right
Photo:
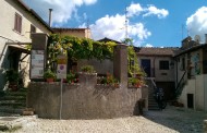
{"type": "Polygon", "coordinates": [[[203,133],[203,122],[207,119],[207,113],[168,106],[163,110],[149,110],[144,117],[180,133],[203,133]]]}

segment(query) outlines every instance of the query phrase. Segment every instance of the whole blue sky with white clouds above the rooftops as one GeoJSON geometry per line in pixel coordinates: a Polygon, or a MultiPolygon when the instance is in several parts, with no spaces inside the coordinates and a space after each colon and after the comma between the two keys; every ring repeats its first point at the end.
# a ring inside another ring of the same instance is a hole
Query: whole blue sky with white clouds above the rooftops
{"type": "Polygon", "coordinates": [[[207,34],[206,0],[24,0],[46,22],[52,8],[52,26],[87,27],[93,39],[108,37],[135,46],[180,47],[182,38],[207,34]]]}

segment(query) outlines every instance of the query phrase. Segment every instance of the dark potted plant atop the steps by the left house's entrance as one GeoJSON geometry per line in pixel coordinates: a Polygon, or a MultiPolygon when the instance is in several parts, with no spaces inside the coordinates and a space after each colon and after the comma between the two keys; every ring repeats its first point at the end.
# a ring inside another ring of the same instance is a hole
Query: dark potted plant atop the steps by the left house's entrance
{"type": "Polygon", "coordinates": [[[20,78],[19,72],[13,69],[7,70],[5,78],[9,82],[9,88],[11,88],[12,90],[17,90],[19,78],[20,78]]]}

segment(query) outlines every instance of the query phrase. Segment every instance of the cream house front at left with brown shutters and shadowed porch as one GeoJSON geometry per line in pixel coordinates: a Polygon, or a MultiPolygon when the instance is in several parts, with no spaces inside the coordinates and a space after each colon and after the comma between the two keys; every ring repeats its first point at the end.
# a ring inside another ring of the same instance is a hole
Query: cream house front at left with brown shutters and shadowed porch
{"type": "Polygon", "coordinates": [[[13,69],[28,80],[32,33],[51,33],[51,28],[21,0],[0,1],[0,89],[4,87],[3,70],[13,69]]]}

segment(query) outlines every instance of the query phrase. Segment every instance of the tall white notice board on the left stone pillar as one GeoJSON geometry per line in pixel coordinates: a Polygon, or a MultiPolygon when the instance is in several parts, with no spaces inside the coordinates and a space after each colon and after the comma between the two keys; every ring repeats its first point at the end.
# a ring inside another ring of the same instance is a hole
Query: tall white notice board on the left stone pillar
{"type": "Polygon", "coordinates": [[[31,78],[44,77],[44,50],[32,50],[31,53],[31,78]]]}

